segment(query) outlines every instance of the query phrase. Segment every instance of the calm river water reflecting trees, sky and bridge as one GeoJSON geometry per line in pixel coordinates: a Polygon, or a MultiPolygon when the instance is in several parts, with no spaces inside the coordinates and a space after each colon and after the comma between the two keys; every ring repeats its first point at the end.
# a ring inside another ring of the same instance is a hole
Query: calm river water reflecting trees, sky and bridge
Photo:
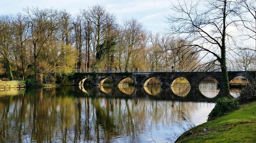
{"type": "MultiPolygon", "coordinates": [[[[207,121],[219,89],[56,87],[1,89],[1,143],[173,143],[207,121]]],[[[239,90],[233,90],[236,95],[239,90]]]]}

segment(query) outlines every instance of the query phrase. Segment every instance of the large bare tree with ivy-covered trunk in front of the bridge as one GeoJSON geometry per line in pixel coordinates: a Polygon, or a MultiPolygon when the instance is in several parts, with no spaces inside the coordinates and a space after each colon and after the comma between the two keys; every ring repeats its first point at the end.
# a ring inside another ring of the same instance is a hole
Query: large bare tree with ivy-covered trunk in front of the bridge
{"type": "Polygon", "coordinates": [[[232,0],[178,0],[172,9],[173,15],[167,18],[170,34],[185,37],[189,44],[182,47],[193,47],[216,57],[212,62],[220,63],[223,91],[229,96],[226,50],[231,49],[235,41],[227,29],[237,20],[233,14],[238,11],[238,5],[232,0]]]}

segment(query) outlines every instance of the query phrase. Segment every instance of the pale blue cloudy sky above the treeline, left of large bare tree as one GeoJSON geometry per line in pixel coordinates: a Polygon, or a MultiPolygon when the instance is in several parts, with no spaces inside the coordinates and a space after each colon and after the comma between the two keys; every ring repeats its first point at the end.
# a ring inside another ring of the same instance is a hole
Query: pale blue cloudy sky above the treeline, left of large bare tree
{"type": "Polygon", "coordinates": [[[75,15],[80,9],[87,9],[95,4],[106,6],[108,12],[117,16],[119,24],[122,24],[123,18],[134,17],[147,30],[162,32],[167,28],[164,16],[170,12],[171,0],[1,0],[0,14],[22,13],[22,8],[34,6],[66,9],[75,15]]]}

